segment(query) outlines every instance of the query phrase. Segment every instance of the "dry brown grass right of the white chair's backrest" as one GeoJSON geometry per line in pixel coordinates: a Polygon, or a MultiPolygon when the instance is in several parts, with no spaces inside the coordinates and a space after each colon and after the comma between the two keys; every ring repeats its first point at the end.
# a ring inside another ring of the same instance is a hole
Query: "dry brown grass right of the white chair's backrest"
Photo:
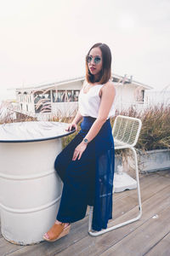
{"type": "Polygon", "coordinates": [[[152,149],[170,148],[170,107],[146,108],[141,112],[133,108],[120,114],[139,118],[142,121],[142,128],[136,148],[144,151],[152,149]]]}

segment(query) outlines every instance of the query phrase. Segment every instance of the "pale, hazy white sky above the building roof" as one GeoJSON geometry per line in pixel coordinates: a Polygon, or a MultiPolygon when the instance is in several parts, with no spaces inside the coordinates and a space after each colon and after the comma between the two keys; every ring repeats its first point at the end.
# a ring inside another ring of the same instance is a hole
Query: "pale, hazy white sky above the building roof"
{"type": "Polygon", "coordinates": [[[108,44],[112,72],[161,90],[170,84],[169,0],[0,0],[0,100],[14,90],[85,74],[108,44]]]}

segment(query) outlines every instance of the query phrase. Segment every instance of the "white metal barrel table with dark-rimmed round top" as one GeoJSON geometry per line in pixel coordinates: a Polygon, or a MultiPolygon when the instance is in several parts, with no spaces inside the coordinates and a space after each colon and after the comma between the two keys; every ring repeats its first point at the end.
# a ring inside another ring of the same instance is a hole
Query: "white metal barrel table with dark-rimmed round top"
{"type": "MultiPolygon", "coordinates": [[[[62,149],[60,137],[68,135],[64,129],[66,124],[58,125],[60,134],[55,127],[57,123],[52,124],[48,132],[44,131],[46,137],[43,134],[45,126],[42,128],[41,122],[34,122],[34,125],[41,133],[37,139],[28,136],[27,141],[21,142],[17,137],[23,135],[15,134],[15,142],[12,142],[8,134],[8,143],[7,137],[6,141],[0,140],[2,234],[8,241],[23,245],[42,241],[43,234],[54,224],[62,189],[54,160],[62,149]]],[[[29,129],[28,123],[21,126],[23,133],[29,129]]],[[[11,131],[8,125],[5,129],[11,131]]],[[[12,134],[13,137],[14,132],[12,134]]]]}

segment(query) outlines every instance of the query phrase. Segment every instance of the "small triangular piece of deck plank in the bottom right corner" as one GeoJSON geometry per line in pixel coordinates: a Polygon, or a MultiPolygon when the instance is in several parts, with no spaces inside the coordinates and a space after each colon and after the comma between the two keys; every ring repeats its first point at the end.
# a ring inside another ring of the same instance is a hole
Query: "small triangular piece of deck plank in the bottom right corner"
{"type": "Polygon", "coordinates": [[[164,236],[155,247],[152,247],[144,256],[168,256],[170,255],[170,232],[164,236]]]}

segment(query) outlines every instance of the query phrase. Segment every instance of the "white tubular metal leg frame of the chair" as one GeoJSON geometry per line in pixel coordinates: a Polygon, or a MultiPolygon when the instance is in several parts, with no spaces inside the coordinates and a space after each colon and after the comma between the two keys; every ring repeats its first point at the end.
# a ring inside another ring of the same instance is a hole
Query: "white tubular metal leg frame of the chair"
{"type": "Polygon", "coordinates": [[[133,151],[134,154],[134,162],[135,162],[135,171],[136,171],[136,181],[137,181],[137,191],[138,191],[138,202],[139,202],[139,214],[136,218],[129,219],[125,222],[122,222],[121,224],[116,224],[114,226],[111,226],[110,228],[107,228],[105,230],[100,231],[92,231],[92,216],[93,216],[93,209],[94,207],[90,207],[89,210],[89,222],[88,222],[88,233],[91,236],[99,236],[106,232],[109,232],[111,230],[116,230],[117,228],[120,228],[124,225],[133,223],[134,221],[137,221],[142,216],[142,205],[141,205],[141,197],[140,197],[140,187],[139,187],[139,170],[138,170],[138,160],[137,160],[137,154],[136,150],[134,148],[130,148],[133,151]]]}

